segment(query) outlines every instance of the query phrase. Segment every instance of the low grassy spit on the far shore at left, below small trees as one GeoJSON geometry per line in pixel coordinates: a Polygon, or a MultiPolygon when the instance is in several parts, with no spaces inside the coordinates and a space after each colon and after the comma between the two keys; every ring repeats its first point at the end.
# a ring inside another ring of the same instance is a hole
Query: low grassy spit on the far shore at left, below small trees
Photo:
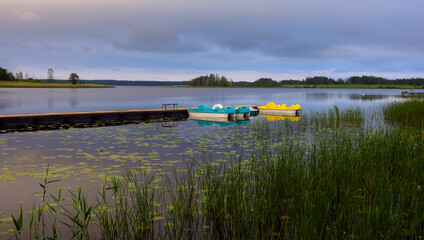
{"type": "Polygon", "coordinates": [[[0,81],[0,88],[114,88],[102,84],[47,83],[36,81],[0,81]]]}

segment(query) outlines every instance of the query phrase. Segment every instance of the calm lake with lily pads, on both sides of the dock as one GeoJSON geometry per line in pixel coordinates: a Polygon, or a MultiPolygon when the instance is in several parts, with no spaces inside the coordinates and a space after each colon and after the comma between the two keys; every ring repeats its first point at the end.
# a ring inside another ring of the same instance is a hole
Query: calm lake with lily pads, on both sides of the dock
{"type": "MultiPolygon", "coordinates": [[[[193,107],[216,103],[265,105],[270,101],[300,104],[304,114],[334,105],[360,106],[371,111],[398,100],[402,100],[400,90],[386,89],[0,89],[0,114],[160,108],[162,103],[169,102],[193,107]]],[[[267,120],[275,119],[257,117],[227,125],[156,122],[0,134],[0,234],[6,235],[11,227],[10,213],[16,215],[19,205],[31,208],[33,200],[40,197],[42,189],[38,183],[43,181],[47,166],[50,178],[60,180],[51,184],[50,190],[84,186],[95,192],[105,178],[119,175],[122,169],[183,171],[186,163],[193,160],[210,158],[222,162],[234,155],[247,159],[257,144],[249,124],[267,120]]],[[[288,124],[302,121],[280,120],[288,124]]],[[[308,141],[308,136],[295,132],[277,137],[308,141]]]]}

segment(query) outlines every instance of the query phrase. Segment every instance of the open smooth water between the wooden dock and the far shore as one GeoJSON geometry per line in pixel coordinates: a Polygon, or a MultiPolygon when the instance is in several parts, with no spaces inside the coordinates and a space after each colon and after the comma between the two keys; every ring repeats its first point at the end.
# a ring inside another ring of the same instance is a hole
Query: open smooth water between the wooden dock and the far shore
{"type": "Polygon", "coordinates": [[[303,111],[329,106],[369,106],[400,98],[399,89],[271,89],[116,87],[100,89],[0,89],[0,114],[214,105],[300,104],[303,111]]]}

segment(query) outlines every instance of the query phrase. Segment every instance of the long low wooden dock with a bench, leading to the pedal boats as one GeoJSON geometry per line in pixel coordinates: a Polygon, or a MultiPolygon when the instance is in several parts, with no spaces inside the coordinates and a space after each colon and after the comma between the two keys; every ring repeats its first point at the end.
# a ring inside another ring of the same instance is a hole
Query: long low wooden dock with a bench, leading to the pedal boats
{"type": "MultiPolygon", "coordinates": [[[[122,125],[152,120],[178,121],[188,118],[187,110],[197,108],[178,108],[175,105],[169,108],[168,104],[164,105],[162,108],[157,109],[3,114],[0,115],[0,130],[4,133],[10,131],[122,125]]],[[[247,106],[256,107],[253,105],[247,106]]]]}

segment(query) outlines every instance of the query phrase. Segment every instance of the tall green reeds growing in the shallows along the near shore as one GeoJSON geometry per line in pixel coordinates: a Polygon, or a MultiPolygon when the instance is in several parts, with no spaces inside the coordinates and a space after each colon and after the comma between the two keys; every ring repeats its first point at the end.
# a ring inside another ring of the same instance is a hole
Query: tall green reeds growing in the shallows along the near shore
{"type": "Polygon", "coordinates": [[[298,122],[255,121],[240,130],[257,143],[248,159],[205,154],[186,171],[124,170],[95,201],[81,188],[51,192],[47,172],[41,200],[14,216],[15,237],[418,239],[423,133],[370,129],[363,114],[335,107],[298,122]]]}

